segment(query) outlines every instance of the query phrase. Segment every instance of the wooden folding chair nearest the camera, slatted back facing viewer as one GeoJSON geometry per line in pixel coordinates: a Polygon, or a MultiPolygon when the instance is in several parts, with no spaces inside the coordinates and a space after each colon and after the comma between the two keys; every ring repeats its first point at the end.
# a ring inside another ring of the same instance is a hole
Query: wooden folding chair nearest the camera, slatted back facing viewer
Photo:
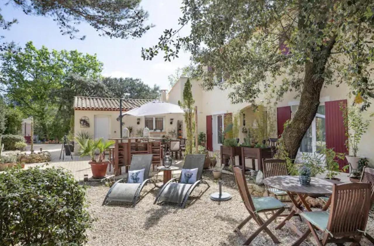
{"type": "Polygon", "coordinates": [[[308,230],[293,244],[300,245],[312,233],[318,246],[326,243],[352,242],[359,245],[365,232],[370,211],[371,186],[365,183],[334,184],[331,208],[327,211],[303,212],[308,230]],[[323,233],[319,239],[315,229],[323,233]]]}

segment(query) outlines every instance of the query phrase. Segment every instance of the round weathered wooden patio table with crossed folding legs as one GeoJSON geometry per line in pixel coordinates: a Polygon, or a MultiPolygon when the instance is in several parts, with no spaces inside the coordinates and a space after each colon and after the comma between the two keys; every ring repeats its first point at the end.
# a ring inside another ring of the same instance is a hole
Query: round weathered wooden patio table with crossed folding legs
{"type": "MultiPolygon", "coordinates": [[[[307,196],[321,197],[325,196],[326,194],[332,194],[332,185],[341,183],[343,182],[311,177],[309,185],[301,185],[298,176],[272,176],[265,178],[264,184],[278,190],[285,191],[288,194],[291,202],[294,204],[289,215],[275,228],[281,229],[284,225],[287,225],[298,236],[303,236],[303,233],[298,230],[296,226],[289,221],[289,219],[291,219],[295,214],[305,211],[312,211],[309,204],[305,200],[307,196]],[[296,199],[295,196],[297,196],[296,199]]],[[[322,210],[327,210],[330,203],[331,196],[322,210]]]]}

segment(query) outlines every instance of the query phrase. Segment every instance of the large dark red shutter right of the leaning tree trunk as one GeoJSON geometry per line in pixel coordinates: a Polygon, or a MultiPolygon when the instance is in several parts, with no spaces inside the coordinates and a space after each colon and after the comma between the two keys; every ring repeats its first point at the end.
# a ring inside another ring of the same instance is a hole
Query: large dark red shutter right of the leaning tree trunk
{"type": "MultiPolygon", "coordinates": [[[[333,148],[335,152],[348,154],[343,112],[340,111],[341,103],[347,105],[347,100],[325,102],[326,148],[333,148]]],[[[348,164],[346,159],[338,160],[338,163],[340,170],[348,164]]]]}

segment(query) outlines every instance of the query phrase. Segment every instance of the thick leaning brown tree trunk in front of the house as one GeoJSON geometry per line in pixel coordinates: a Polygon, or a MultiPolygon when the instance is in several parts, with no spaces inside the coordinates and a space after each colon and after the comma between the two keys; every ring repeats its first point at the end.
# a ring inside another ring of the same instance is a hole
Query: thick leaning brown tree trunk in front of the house
{"type": "Polygon", "coordinates": [[[282,133],[283,146],[291,159],[295,159],[301,141],[316,116],[319,96],[325,81],[325,66],[334,43],[335,41],[331,40],[327,46],[322,46],[321,51],[315,52],[313,61],[305,64],[300,104],[291,122],[282,133]]]}

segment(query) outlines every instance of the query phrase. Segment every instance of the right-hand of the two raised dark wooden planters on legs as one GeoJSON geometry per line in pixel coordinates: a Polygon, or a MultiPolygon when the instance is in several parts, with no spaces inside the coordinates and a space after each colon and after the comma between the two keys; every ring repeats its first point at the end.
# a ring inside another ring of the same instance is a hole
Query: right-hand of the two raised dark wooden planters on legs
{"type": "Polygon", "coordinates": [[[263,172],[263,159],[273,158],[274,151],[272,148],[250,148],[241,147],[241,157],[242,157],[242,168],[245,169],[245,158],[252,159],[252,169],[256,170],[255,159],[257,159],[258,170],[263,172]]]}

